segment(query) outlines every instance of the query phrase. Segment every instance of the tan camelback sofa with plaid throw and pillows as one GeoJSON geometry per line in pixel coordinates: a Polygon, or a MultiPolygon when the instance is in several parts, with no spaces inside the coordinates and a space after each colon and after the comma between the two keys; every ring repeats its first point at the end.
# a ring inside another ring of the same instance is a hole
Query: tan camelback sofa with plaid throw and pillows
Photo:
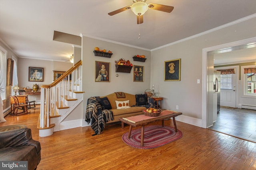
{"type": "Polygon", "coordinates": [[[133,95],[124,92],[115,92],[107,96],[90,97],[87,101],[85,121],[87,123],[91,122],[91,127],[95,132],[94,135],[99,135],[102,133],[105,123],[117,122],[120,117],[143,114],[142,110],[152,107],[153,104],[154,100],[148,98],[145,94],[133,95]],[[124,107],[126,107],[127,100],[129,100],[129,108],[117,108],[116,101],[119,104],[125,103],[126,105],[124,107]]]}

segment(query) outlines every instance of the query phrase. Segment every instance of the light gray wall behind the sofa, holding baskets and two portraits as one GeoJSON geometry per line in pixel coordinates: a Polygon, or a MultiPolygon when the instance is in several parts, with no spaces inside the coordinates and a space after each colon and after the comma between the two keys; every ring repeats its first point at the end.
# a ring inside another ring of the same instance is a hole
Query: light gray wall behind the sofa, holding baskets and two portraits
{"type": "Polygon", "coordinates": [[[118,45],[106,41],[82,37],[82,88],[84,93],[84,113],[87,100],[91,96],[106,96],[114,92],[144,94],[150,88],[150,51],[118,45]],[[94,47],[112,51],[111,58],[94,56],[94,47]],[[146,61],[133,61],[134,55],[145,55],[146,61]],[[133,70],[130,73],[116,72],[115,61],[124,58],[133,65],[144,66],[144,82],[133,82],[133,70]],[[110,63],[110,82],[95,82],[95,61],[110,63]],[[119,74],[116,77],[116,74],[119,74]]]}

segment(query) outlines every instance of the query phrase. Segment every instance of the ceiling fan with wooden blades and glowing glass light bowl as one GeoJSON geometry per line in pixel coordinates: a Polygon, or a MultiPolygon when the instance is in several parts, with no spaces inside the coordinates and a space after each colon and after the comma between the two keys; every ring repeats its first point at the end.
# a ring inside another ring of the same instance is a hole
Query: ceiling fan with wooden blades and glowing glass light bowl
{"type": "Polygon", "coordinates": [[[143,14],[148,10],[158,10],[162,12],[172,12],[174,9],[173,6],[167,6],[167,5],[160,5],[160,4],[153,4],[149,3],[146,4],[147,0],[132,0],[133,4],[131,6],[126,6],[124,8],[120,8],[118,10],[112,11],[108,13],[108,15],[113,16],[115,14],[118,14],[120,12],[126,11],[131,9],[132,12],[137,16],[137,24],[143,23],[143,14]]]}

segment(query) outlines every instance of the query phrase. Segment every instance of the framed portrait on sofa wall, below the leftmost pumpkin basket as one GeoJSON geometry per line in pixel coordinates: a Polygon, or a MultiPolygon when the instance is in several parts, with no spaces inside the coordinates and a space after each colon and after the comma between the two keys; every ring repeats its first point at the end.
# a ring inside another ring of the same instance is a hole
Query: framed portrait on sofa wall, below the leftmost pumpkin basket
{"type": "Polygon", "coordinates": [[[95,61],[95,82],[110,82],[110,63],[95,61]]]}

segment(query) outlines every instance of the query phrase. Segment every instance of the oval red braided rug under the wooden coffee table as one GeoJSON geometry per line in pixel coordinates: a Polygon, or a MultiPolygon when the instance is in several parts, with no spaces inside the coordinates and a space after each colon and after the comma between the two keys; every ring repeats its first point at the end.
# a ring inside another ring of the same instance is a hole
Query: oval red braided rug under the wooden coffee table
{"type": "Polygon", "coordinates": [[[144,145],[140,146],[141,128],[134,129],[128,139],[128,132],[124,133],[122,140],[127,145],[138,149],[153,149],[161,147],[182,138],[182,132],[175,132],[174,127],[152,125],[144,127],[144,145]]]}

